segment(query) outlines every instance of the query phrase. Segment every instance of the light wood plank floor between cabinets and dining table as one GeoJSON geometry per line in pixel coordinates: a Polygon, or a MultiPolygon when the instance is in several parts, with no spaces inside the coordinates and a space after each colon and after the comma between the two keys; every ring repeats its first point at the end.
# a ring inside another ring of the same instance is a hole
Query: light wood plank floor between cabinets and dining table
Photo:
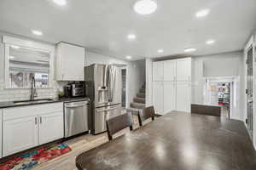
{"type": "MultiPolygon", "coordinates": [[[[150,120],[148,120],[148,122],[150,122],[150,120]]],[[[135,129],[137,127],[139,127],[137,116],[133,116],[133,128],[135,129]]],[[[119,135],[121,135],[122,133],[126,133],[127,131],[129,131],[128,128],[124,131],[121,131],[120,133],[117,133],[114,138],[117,138],[119,135]]],[[[107,133],[102,133],[98,135],[86,134],[74,139],[70,139],[65,143],[71,147],[72,151],[68,152],[63,156],[56,157],[53,160],[46,161],[38,165],[38,167],[33,168],[33,170],[76,170],[76,156],[79,156],[79,154],[86,150],[91,150],[96,146],[105,144],[106,142],[108,142],[107,133]]]]}

